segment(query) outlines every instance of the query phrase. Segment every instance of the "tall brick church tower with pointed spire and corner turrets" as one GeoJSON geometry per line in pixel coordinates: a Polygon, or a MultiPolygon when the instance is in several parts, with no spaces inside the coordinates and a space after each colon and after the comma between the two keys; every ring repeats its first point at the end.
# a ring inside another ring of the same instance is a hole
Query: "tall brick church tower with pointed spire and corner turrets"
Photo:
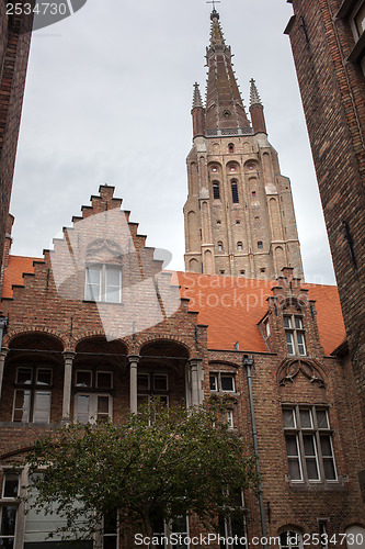
{"type": "Polygon", "coordinates": [[[226,45],[219,14],[210,14],[206,104],[193,98],[193,148],[184,206],[189,271],[275,278],[292,266],[303,278],[290,182],[267,141],[258,89],[251,80],[251,122],[226,45]]]}

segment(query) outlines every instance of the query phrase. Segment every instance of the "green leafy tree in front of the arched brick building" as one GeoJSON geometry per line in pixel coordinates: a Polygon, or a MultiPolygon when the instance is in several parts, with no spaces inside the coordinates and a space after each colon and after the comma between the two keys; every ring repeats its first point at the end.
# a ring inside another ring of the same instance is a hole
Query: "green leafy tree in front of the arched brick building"
{"type": "Polygon", "coordinates": [[[153,406],[127,423],[71,424],[39,439],[28,456],[31,473],[43,473],[33,475],[32,507],[62,515],[64,536],[83,539],[115,509],[146,536],[157,515],[196,514],[212,526],[233,512],[237,491],[256,488],[252,450],[217,406],[153,406]]]}

